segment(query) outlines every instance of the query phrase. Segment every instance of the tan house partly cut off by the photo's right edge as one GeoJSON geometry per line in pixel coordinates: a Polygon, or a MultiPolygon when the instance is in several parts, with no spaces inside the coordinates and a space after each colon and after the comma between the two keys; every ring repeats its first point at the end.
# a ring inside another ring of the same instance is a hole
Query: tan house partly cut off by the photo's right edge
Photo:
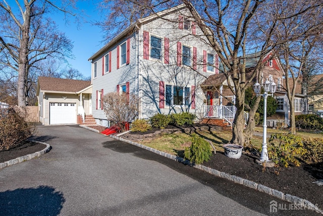
{"type": "Polygon", "coordinates": [[[323,74],[314,75],[308,83],[308,113],[323,117],[323,74]]]}

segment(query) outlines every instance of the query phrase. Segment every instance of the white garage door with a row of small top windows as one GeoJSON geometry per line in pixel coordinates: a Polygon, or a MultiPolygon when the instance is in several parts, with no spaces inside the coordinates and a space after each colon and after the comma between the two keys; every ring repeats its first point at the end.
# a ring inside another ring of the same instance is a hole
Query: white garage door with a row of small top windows
{"type": "Polygon", "coordinates": [[[75,103],[49,103],[49,124],[75,124],[75,103]]]}

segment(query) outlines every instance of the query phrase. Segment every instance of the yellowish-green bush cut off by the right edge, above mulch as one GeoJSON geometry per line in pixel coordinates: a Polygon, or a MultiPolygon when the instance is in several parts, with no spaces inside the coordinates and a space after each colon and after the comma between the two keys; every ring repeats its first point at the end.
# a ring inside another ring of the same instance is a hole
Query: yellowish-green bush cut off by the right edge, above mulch
{"type": "Polygon", "coordinates": [[[302,160],[305,163],[320,163],[323,162],[323,139],[322,138],[303,138],[306,154],[302,155],[302,160]]]}

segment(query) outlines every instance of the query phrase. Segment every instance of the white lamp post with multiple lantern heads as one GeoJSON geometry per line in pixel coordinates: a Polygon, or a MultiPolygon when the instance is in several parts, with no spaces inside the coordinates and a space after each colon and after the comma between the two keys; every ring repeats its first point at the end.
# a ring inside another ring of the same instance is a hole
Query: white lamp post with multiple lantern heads
{"type": "Polygon", "coordinates": [[[263,97],[263,141],[262,141],[262,150],[261,150],[261,156],[260,156],[260,161],[261,162],[267,162],[269,161],[268,158],[268,151],[267,151],[267,97],[268,96],[273,96],[274,93],[276,92],[277,85],[273,81],[268,81],[268,79],[265,81],[265,83],[262,84],[262,87],[264,89],[264,93],[261,95],[260,94],[260,89],[261,85],[256,82],[253,85],[253,90],[257,94],[257,96],[262,96],[263,97]],[[268,94],[271,93],[271,94],[268,94]]]}

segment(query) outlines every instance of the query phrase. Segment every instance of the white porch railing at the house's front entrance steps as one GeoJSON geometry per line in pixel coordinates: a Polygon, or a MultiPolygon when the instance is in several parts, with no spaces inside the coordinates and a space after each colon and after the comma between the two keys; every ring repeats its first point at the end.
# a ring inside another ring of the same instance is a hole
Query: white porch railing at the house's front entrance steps
{"type": "MultiPolygon", "coordinates": [[[[204,117],[206,118],[223,118],[231,125],[236,115],[235,106],[222,105],[204,105],[204,117]]],[[[244,123],[247,125],[249,113],[244,111],[244,123]]]]}

